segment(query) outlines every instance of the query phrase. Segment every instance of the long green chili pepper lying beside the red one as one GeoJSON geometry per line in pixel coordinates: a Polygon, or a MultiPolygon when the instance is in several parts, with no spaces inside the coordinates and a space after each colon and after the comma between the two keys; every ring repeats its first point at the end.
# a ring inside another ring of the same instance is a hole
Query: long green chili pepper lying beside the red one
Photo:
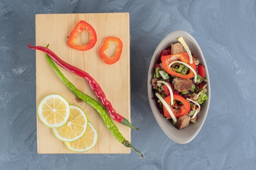
{"type": "Polygon", "coordinates": [[[132,150],[135,150],[139,155],[141,156],[141,159],[143,158],[143,155],[135,149],[132,144],[130,144],[129,141],[127,141],[124,136],[119,132],[117,126],[114,124],[106,110],[97,102],[94,100],[92,97],[86,95],[85,93],[79,91],[58,69],[58,67],[54,64],[52,59],[49,57],[49,55],[45,54],[46,58],[49,62],[49,64],[52,66],[54,71],[58,74],[58,77],[60,77],[61,81],[72,91],[79,99],[83,100],[85,103],[89,104],[92,106],[97,112],[101,115],[101,118],[103,119],[104,123],[108,127],[108,129],[112,132],[114,137],[121,143],[124,144],[124,146],[128,148],[132,148],[132,150]]]}

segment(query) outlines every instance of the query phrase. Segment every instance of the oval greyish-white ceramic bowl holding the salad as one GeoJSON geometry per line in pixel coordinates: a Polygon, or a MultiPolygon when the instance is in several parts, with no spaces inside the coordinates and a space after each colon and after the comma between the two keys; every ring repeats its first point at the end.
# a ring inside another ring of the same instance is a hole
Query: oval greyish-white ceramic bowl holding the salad
{"type": "Polygon", "coordinates": [[[174,31],[166,35],[166,37],[159,43],[157,48],[155,49],[155,52],[152,56],[149,70],[148,70],[148,100],[151,107],[151,110],[153,112],[153,115],[155,119],[157,120],[157,123],[159,126],[164,130],[166,135],[170,137],[173,141],[179,143],[179,144],[187,144],[190,141],[192,141],[197,135],[198,132],[201,130],[204,121],[207,117],[207,113],[209,110],[210,105],[210,99],[211,99],[211,85],[210,85],[210,79],[209,79],[209,73],[207,64],[204,59],[204,55],[202,53],[202,50],[198,43],[195,41],[195,39],[190,35],[189,33],[185,31],[174,31]],[[208,79],[208,86],[207,86],[207,96],[208,100],[204,101],[204,103],[201,106],[201,110],[198,113],[198,121],[196,124],[189,124],[188,127],[183,128],[182,130],[178,130],[173,126],[171,121],[168,121],[164,118],[164,116],[159,112],[159,110],[156,107],[155,100],[152,99],[154,97],[153,91],[152,91],[152,85],[151,85],[151,79],[154,74],[154,66],[159,58],[161,51],[163,49],[166,49],[168,46],[170,46],[174,42],[178,42],[178,37],[182,36],[186,44],[189,46],[190,51],[195,55],[195,57],[198,58],[200,61],[200,64],[205,67],[205,78],[208,79]]]}

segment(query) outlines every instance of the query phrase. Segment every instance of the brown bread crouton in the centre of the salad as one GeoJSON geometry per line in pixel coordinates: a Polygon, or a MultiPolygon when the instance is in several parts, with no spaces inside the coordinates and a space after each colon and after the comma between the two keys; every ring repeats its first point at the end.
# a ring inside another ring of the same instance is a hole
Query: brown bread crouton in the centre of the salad
{"type": "Polygon", "coordinates": [[[183,79],[183,78],[173,79],[174,88],[178,92],[191,90],[192,84],[193,84],[193,82],[191,79],[183,79]]]}

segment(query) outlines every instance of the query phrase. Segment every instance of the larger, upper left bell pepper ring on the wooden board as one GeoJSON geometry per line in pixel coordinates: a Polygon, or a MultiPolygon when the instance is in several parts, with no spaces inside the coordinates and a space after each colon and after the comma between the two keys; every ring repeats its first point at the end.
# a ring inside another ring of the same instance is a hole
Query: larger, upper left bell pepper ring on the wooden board
{"type": "Polygon", "coordinates": [[[67,40],[67,45],[70,46],[72,49],[76,49],[79,51],[86,51],[92,49],[97,42],[97,34],[94,28],[87,22],[81,20],[79,21],[72,31],[70,32],[70,36],[67,40]],[[83,31],[88,31],[89,33],[89,42],[83,45],[75,44],[77,35],[83,31]]]}

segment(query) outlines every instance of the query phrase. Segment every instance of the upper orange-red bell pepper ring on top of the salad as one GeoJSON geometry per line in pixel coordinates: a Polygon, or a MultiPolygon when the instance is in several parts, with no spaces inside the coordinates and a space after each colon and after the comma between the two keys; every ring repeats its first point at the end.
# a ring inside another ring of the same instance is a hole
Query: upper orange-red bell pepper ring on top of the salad
{"type": "Polygon", "coordinates": [[[184,79],[190,79],[190,78],[194,77],[194,73],[191,70],[189,70],[189,74],[184,75],[184,74],[175,72],[175,70],[173,68],[169,67],[169,64],[176,60],[185,62],[186,64],[189,64],[195,70],[195,62],[193,61],[193,63],[190,64],[188,53],[178,53],[178,54],[162,56],[162,64],[163,64],[164,70],[167,73],[177,76],[177,77],[180,77],[180,78],[184,78],[184,79]]]}

